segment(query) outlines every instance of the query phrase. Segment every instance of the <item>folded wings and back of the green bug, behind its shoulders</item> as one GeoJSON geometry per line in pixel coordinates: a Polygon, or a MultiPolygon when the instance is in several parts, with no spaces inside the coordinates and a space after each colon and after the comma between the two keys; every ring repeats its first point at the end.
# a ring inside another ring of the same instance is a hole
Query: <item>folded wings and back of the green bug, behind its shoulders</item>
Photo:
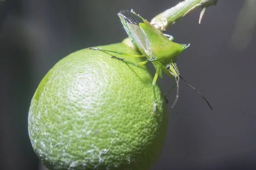
{"type": "Polygon", "coordinates": [[[155,44],[169,39],[134,11],[121,10],[118,13],[128,36],[145,54],[150,55],[155,44]]]}

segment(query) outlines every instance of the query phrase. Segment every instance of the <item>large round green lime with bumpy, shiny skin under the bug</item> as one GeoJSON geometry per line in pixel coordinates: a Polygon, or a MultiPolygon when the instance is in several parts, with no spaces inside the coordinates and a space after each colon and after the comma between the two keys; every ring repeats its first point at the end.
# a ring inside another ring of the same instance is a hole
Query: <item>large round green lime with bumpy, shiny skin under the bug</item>
{"type": "MultiPolygon", "coordinates": [[[[117,43],[101,46],[136,54],[117,43]]],[[[40,82],[29,108],[32,147],[49,170],[148,170],[167,130],[166,102],[148,64],[129,65],[83,49],[61,59],[40,82]]]]}

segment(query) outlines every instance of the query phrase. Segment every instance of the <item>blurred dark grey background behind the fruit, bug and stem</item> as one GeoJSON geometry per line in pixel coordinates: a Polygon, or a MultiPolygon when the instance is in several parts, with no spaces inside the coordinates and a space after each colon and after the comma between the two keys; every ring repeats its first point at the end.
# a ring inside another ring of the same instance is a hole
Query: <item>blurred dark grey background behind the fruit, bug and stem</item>
{"type": "MultiPolygon", "coordinates": [[[[38,170],[27,132],[30,100],[58,60],[82,48],[121,42],[117,12],[150,20],[179,0],[6,0],[0,4],[0,170],[38,170]]],[[[178,58],[180,74],[211,103],[180,82],[169,131],[154,170],[256,169],[255,0],[219,0],[198,24],[200,10],[167,34],[191,43],[178,58]],[[248,5],[249,4],[249,5],[248,5]],[[239,13],[249,17],[240,20],[239,13]],[[237,30],[237,31],[235,31],[237,30]],[[233,37],[233,38],[232,38],[233,37]]],[[[151,64],[150,64],[151,65],[151,64]]],[[[152,72],[154,68],[152,67],[152,72]]],[[[174,80],[159,79],[163,91],[174,80]]]]}

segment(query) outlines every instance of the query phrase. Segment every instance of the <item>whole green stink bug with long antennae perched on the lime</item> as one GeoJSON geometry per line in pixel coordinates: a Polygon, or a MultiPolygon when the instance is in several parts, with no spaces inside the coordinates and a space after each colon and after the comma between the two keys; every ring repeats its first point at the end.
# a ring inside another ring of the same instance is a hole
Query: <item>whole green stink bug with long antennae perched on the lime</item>
{"type": "MultiPolygon", "coordinates": [[[[177,99],[179,97],[179,80],[184,80],[178,71],[177,68],[177,56],[186,48],[189,47],[190,44],[178,44],[173,42],[173,37],[167,34],[163,34],[157,28],[152,26],[147,20],[143,19],[139,14],[136,14],[132,9],[131,11],[128,10],[121,10],[118,13],[118,16],[121,20],[125,31],[127,32],[128,36],[140,50],[141,55],[134,55],[134,54],[126,54],[122,53],[121,51],[110,51],[105,50],[102,48],[89,48],[94,50],[100,50],[105,52],[113,52],[121,55],[126,55],[130,57],[147,57],[147,59],[143,62],[133,63],[124,58],[114,57],[111,58],[120,59],[124,62],[129,64],[133,64],[136,66],[144,65],[148,61],[151,61],[156,69],[156,74],[154,75],[154,79],[152,82],[153,85],[153,92],[154,92],[154,105],[153,105],[153,113],[156,113],[156,106],[157,106],[157,98],[155,93],[155,84],[157,81],[157,77],[163,78],[163,71],[168,74],[170,77],[175,79],[175,84],[177,85],[177,92],[176,98],[172,105],[172,108],[175,106],[177,99]]],[[[175,85],[174,84],[174,85],[175,85]]],[[[204,98],[192,85],[186,82],[187,85],[192,87],[210,106],[207,99],[204,98]]],[[[174,87],[172,86],[172,88],[174,87]]],[[[171,88],[171,89],[172,89],[171,88]]],[[[170,90],[171,90],[170,89],[170,90]]]]}

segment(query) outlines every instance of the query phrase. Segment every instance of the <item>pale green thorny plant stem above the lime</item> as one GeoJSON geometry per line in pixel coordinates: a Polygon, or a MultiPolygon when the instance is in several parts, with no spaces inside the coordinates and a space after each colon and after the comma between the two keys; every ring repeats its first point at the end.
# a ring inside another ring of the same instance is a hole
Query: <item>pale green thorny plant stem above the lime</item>
{"type": "Polygon", "coordinates": [[[166,31],[166,28],[176,23],[181,17],[186,16],[195,9],[202,7],[203,10],[200,14],[199,23],[205,13],[207,7],[216,5],[218,0],[184,0],[178,3],[176,6],[167,9],[166,11],[158,14],[151,20],[151,25],[159,29],[160,31],[166,31]]]}

